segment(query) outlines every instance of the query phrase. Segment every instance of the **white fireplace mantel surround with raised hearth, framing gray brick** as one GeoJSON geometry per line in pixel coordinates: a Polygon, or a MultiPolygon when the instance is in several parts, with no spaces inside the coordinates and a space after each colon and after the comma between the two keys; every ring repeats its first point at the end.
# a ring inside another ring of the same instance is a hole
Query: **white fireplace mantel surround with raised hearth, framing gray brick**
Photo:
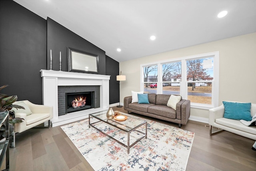
{"type": "Polygon", "coordinates": [[[53,127],[85,119],[90,113],[109,108],[110,76],[53,70],[40,70],[40,72],[42,77],[43,104],[53,106],[53,118],[51,119],[53,127]],[[100,85],[100,107],[58,116],[58,86],[68,85],[100,85]]]}

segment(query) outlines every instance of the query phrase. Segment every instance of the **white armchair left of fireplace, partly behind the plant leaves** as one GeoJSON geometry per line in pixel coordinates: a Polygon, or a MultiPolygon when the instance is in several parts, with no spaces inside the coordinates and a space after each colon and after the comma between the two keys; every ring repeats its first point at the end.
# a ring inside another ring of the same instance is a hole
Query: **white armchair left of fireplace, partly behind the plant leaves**
{"type": "Polygon", "coordinates": [[[41,123],[48,121],[50,128],[50,119],[53,117],[53,107],[46,105],[37,105],[28,100],[16,101],[13,104],[21,105],[25,109],[15,109],[15,117],[24,119],[22,123],[15,123],[14,131],[21,133],[41,123]]]}

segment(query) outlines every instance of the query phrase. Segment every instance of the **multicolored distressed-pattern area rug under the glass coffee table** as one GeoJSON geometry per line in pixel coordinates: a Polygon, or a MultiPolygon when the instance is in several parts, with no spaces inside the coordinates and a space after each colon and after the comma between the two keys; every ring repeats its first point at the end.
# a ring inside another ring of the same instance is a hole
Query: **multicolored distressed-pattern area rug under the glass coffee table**
{"type": "MultiPolygon", "coordinates": [[[[194,133],[147,121],[148,138],[141,139],[131,147],[129,154],[116,141],[93,127],[89,128],[88,119],[61,128],[96,171],[185,171],[194,133]]],[[[127,142],[127,133],[124,131],[106,123],[98,123],[97,127],[123,143],[127,142]]],[[[145,126],[140,131],[144,132],[145,126]]],[[[137,137],[136,133],[131,134],[130,141],[136,141],[137,137]]]]}

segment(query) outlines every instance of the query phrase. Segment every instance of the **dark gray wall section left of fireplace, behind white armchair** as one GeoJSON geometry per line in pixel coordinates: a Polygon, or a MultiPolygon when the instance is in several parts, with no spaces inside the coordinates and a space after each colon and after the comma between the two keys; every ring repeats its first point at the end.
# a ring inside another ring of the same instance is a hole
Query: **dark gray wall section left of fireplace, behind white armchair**
{"type": "Polygon", "coordinates": [[[46,20],[12,0],[0,0],[0,86],[18,100],[42,104],[46,20]]]}

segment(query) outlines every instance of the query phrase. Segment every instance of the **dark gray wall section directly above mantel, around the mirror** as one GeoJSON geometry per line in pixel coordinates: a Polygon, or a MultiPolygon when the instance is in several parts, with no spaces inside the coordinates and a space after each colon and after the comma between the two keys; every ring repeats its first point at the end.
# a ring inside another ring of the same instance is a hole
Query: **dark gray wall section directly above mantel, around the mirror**
{"type": "Polygon", "coordinates": [[[106,56],[105,51],[64,26],[58,24],[51,18],[47,18],[47,69],[50,70],[50,50],[52,50],[52,70],[60,70],[60,52],[62,71],[68,71],[68,47],[96,54],[99,56],[98,73],[106,74],[106,56]]]}

